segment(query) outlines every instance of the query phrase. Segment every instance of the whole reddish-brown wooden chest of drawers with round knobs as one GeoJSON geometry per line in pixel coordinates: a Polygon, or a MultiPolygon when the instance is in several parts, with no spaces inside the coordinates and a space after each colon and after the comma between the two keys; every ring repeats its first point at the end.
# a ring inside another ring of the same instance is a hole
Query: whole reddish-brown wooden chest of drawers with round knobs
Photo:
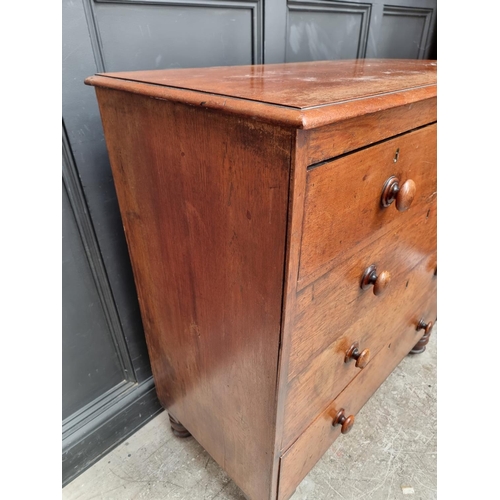
{"type": "Polygon", "coordinates": [[[436,319],[436,63],[86,83],[172,427],[287,499],[436,319]]]}

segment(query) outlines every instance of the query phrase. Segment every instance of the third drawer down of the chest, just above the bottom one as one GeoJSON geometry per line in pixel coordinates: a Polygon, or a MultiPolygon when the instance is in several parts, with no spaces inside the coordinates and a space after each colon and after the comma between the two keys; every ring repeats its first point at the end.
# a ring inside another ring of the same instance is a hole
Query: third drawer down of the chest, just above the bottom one
{"type": "MultiPolygon", "coordinates": [[[[434,263],[435,255],[431,255],[404,273],[392,295],[387,297],[387,302],[353,320],[334,342],[314,356],[303,371],[289,382],[283,447],[292,443],[329,401],[368,369],[385,343],[394,334],[401,333],[399,329],[403,318],[406,319],[406,325],[412,325],[411,339],[418,340],[416,327],[419,321],[433,321],[430,319],[432,311],[428,310],[426,304],[436,296],[434,263]],[[359,344],[360,353],[368,354],[364,368],[357,367],[353,359],[346,362],[346,355],[354,342],[359,344]]],[[[335,317],[330,320],[332,328],[334,324],[335,317]]]]}

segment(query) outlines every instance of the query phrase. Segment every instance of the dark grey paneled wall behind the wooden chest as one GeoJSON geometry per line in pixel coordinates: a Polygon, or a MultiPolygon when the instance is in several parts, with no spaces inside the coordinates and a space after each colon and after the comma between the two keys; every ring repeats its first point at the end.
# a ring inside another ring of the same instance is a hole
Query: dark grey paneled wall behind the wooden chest
{"type": "MultiPolygon", "coordinates": [[[[436,0],[63,0],[63,482],[160,411],[99,71],[435,57],[436,0]]],[[[174,244],[174,243],[173,243],[174,244]]]]}

